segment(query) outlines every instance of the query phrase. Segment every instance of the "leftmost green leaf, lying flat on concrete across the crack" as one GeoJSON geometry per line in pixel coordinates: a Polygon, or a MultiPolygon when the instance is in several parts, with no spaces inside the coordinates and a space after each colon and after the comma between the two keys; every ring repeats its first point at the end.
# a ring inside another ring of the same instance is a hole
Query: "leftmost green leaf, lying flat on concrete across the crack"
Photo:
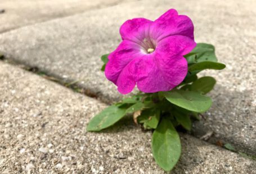
{"type": "Polygon", "coordinates": [[[125,116],[125,108],[110,106],[105,108],[101,113],[92,118],[87,126],[87,131],[100,131],[114,125],[125,116]]]}

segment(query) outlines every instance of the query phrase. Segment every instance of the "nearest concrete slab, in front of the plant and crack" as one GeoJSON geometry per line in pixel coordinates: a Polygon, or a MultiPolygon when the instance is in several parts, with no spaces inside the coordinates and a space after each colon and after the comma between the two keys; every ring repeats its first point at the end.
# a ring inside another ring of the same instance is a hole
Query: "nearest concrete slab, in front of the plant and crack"
{"type": "MultiPolygon", "coordinates": [[[[151,132],[130,118],[101,133],[86,132],[105,104],[0,62],[0,173],[164,173],[151,132]]],[[[253,173],[256,162],[181,134],[173,173],[253,173]]]]}

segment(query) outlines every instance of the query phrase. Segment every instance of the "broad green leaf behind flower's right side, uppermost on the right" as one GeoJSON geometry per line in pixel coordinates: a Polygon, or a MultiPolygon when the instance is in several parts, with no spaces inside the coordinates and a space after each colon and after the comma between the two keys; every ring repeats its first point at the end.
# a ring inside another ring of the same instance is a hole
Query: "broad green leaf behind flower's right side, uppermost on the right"
{"type": "Polygon", "coordinates": [[[211,44],[197,43],[196,47],[190,53],[186,54],[185,57],[188,64],[204,61],[217,62],[214,51],[215,48],[211,44]]]}

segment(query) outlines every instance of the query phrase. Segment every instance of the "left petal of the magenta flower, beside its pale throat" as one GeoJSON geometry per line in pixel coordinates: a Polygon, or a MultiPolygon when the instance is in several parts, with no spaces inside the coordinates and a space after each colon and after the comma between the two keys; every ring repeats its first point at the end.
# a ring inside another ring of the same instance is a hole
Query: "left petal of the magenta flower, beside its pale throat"
{"type": "Polygon", "coordinates": [[[123,40],[114,52],[109,54],[109,62],[105,68],[105,76],[114,84],[117,83],[118,77],[123,68],[128,65],[134,58],[141,57],[140,46],[129,40],[123,40]]]}

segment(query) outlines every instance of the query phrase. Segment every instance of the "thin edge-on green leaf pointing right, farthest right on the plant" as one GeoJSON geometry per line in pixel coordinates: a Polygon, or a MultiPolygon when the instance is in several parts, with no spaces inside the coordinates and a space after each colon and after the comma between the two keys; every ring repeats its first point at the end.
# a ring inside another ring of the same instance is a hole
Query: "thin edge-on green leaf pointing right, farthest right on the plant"
{"type": "Polygon", "coordinates": [[[210,62],[210,61],[205,61],[205,62],[199,62],[195,63],[191,66],[188,67],[188,71],[201,71],[205,69],[213,69],[213,70],[222,70],[226,67],[223,63],[218,63],[218,62],[210,62]]]}

